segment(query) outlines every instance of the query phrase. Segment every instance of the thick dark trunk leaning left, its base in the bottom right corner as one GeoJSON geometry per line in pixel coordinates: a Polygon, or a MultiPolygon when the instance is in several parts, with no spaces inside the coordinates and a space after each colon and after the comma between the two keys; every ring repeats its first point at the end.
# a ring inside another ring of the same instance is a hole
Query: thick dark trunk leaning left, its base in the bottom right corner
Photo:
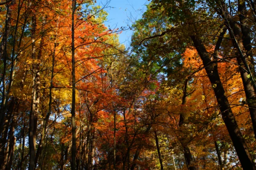
{"type": "Polygon", "coordinates": [[[209,54],[201,39],[196,35],[192,35],[190,38],[192,39],[194,46],[203,61],[205,71],[207,72],[207,76],[213,86],[213,90],[221,111],[222,119],[224,120],[224,123],[230,134],[230,138],[234,144],[241,165],[244,169],[256,170],[252,156],[237,125],[227,96],[225,95],[225,91],[218,74],[218,66],[210,59],[209,54]]]}

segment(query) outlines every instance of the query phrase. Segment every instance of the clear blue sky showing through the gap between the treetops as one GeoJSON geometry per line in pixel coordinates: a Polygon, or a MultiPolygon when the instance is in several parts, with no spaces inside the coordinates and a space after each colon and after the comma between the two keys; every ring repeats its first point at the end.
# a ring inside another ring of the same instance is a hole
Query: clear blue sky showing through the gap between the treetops
{"type": "MultiPolygon", "coordinates": [[[[97,4],[102,3],[105,4],[106,0],[97,0],[97,4]]],[[[148,3],[148,0],[111,0],[109,3],[111,8],[105,9],[108,12],[108,21],[105,25],[110,26],[111,29],[131,26],[135,20],[141,18],[148,3]]],[[[120,43],[129,45],[132,32],[131,30],[123,31],[119,35],[120,43]]]]}

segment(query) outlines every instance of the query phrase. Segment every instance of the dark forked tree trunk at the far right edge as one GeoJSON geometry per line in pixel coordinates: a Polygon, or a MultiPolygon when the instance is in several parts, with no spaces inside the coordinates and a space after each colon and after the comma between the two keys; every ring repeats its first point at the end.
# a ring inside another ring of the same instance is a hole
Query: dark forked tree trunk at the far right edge
{"type": "MultiPolygon", "coordinates": [[[[244,92],[247,99],[247,105],[250,111],[250,117],[253,123],[254,135],[256,138],[256,102],[255,102],[256,101],[256,93],[255,93],[256,84],[254,81],[254,74],[252,74],[253,72],[251,72],[252,70],[255,73],[254,63],[252,64],[250,62],[250,65],[251,65],[250,67],[247,65],[247,61],[246,61],[247,55],[243,50],[245,48],[247,51],[247,54],[249,54],[248,52],[251,49],[250,30],[249,28],[247,28],[246,18],[244,17],[243,14],[239,14],[240,20],[244,24],[244,25],[241,24],[241,29],[240,29],[239,25],[236,24],[236,22],[231,17],[230,13],[227,11],[226,4],[223,1],[221,1],[220,8],[223,11],[223,14],[221,14],[221,16],[225,24],[227,25],[230,37],[232,39],[233,46],[238,50],[236,55],[236,60],[237,60],[237,64],[239,65],[239,72],[244,85],[244,92]]],[[[244,13],[244,11],[246,10],[244,3],[239,3],[239,10],[240,10],[240,13],[244,13]]]]}

